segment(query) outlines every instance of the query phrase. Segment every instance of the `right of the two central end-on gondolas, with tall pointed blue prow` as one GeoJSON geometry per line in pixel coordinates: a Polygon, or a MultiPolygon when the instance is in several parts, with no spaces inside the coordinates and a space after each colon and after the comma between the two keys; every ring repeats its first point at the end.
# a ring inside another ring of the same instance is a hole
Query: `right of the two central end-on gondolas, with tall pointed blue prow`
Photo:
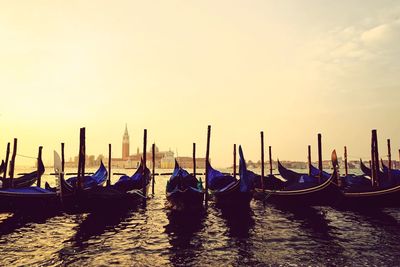
{"type": "MultiPolygon", "coordinates": [[[[239,146],[239,170],[245,169],[245,160],[241,146],[239,146]],[[244,166],[244,167],[243,167],[244,166]]],[[[240,179],[235,179],[229,174],[223,174],[211,167],[210,162],[206,162],[208,168],[208,188],[211,197],[220,207],[248,207],[254,193],[253,178],[239,171],[240,179]]]]}

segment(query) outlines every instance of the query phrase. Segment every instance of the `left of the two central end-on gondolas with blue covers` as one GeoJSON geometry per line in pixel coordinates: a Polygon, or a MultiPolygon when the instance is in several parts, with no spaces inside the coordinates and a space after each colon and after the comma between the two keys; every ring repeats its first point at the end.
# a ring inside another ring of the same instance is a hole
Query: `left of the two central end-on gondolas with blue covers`
{"type": "Polygon", "coordinates": [[[201,208],[204,189],[199,180],[182,169],[175,160],[175,168],[166,186],[166,195],[173,210],[201,208]]]}

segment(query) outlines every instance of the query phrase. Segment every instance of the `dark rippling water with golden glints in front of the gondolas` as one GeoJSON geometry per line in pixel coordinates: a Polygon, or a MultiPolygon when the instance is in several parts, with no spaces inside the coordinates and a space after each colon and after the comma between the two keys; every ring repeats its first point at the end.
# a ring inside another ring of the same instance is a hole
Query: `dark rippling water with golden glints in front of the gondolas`
{"type": "Polygon", "coordinates": [[[223,211],[211,204],[179,214],[165,208],[166,180],[158,178],[146,207],[129,212],[0,213],[0,266],[400,263],[398,209],[282,210],[253,201],[249,210],[223,211]]]}

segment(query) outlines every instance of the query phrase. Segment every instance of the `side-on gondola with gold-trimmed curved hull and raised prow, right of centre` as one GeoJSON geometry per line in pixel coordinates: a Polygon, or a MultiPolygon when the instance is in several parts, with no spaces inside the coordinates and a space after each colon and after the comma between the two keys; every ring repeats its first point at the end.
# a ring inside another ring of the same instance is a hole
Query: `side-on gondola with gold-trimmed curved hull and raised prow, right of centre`
{"type": "MultiPolygon", "coordinates": [[[[332,160],[336,158],[336,152],[332,152],[332,160]]],[[[264,200],[280,206],[305,207],[332,205],[341,196],[341,191],[336,184],[336,172],[329,179],[318,183],[313,177],[304,177],[298,183],[288,185],[282,190],[265,190],[264,200]]]]}

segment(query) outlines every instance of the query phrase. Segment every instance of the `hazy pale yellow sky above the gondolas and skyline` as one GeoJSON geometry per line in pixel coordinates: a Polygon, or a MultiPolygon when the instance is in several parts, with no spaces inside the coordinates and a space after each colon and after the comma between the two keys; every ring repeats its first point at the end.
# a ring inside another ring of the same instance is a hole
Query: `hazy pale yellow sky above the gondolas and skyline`
{"type": "MultiPolygon", "coordinates": [[[[231,165],[233,144],[260,159],[323,157],[332,149],[369,158],[400,147],[399,1],[1,1],[0,158],[66,143],[78,153],[120,157],[143,129],[160,150],[231,165]]],[[[150,145],[148,145],[150,147],[150,145]]],[[[17,164],[33,164],[17,159],[17,164]]]]}

